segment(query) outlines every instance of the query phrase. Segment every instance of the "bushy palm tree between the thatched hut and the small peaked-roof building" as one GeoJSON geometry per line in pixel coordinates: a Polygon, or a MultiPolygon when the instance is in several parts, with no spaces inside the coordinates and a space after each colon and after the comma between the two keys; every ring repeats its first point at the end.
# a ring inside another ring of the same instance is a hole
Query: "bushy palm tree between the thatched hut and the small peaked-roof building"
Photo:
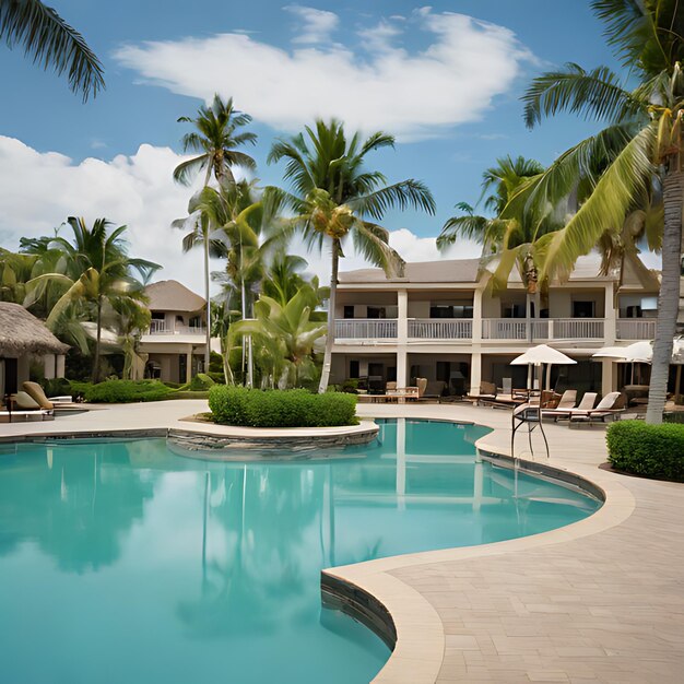
{"type": "Polygon", "coordinates": [[[142,307],[145,302],[144,282],[161,266],[145,259],[128,256],[123,241],[127,226],[122,225],[109,233],[111,223],[97,219],[89,228],[83,219],[70,216],[68,225],[73,231],[73,244],[64,237],[52,238],[51,244],[62,251],[66,268],[63,272],[44,273],[27,283],[30,299],[39,298],[49,283],[60,283],[66,292],[56,302],[47,320],[47,327],[55,330],[66,312],[74,304],[93,307],[96,322],[95,354],[93,361],[93,381],[99,380],[99,353],[102,341],[103,315],[107,307],[117,308],[128,304],[142,307]],[[142,282],[133,276],[137,272],[142,282]]]}

